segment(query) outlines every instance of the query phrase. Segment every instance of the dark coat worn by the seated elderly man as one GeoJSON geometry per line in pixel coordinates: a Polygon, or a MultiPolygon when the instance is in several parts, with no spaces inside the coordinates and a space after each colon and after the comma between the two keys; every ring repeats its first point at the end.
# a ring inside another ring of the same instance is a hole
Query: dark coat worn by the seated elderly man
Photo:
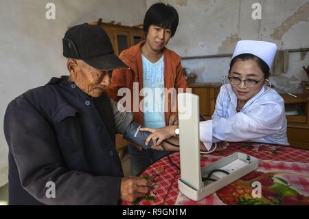
{"type": "Polygon", "coordinates": [[[99,113],[93,98],[67,79],[52,78],[8,105],[10,205],[119,203],[124,174],[115,133],[128,119],[119,119],[105,93],[99,113]],[[49,181],[55,183],[56,198],[46,196],[49,181]]]}

